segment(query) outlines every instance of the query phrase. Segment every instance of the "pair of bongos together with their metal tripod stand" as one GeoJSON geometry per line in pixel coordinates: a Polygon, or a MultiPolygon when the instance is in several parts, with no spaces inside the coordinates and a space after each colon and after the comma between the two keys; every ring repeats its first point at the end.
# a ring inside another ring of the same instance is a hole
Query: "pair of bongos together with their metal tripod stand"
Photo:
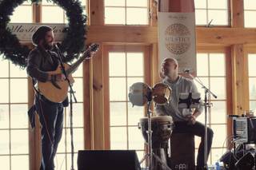
{"type": "MultiPolygon", "coordinates": [[[[162,84],[162,83],[161,83],[162,84]]],[[[154,170],[153,166],[153,159],[156,163],[162,164],[163,167],[165,167],[166,170],[171,170],[168,165],[161,160],[159,156],[154,154],[153,148],[152,148],[152,124],[151,124],[151,114],[152,111],[150,110],[150,106],[152,104],[152,101],[159,102],[160,105],[165,104],[170,100],[170,94],[171,89],[168,87],[168,85],[162,84],[162,85],[155,85],[153,89],[150,88],[149,85],[146,85],[145,83],[138,82],[134,83],[130,86],[130,93],[129,93],[129,100],[133,105],[143,106],[146,104],[147,109],[147,147],[148,147],[148,153],[142,158],[140,161],[140,164],[144,160],[148,160],[148,169],[154,170]],[[166,93],[167,92],[167,93],[166,93]]]]}

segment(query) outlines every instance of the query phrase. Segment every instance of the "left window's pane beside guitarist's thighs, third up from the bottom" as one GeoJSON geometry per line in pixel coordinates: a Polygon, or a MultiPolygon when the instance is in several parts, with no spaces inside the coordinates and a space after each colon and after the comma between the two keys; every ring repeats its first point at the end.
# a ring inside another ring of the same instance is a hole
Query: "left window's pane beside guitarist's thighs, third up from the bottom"
{"type": "Polygon", "coordinates": [[[28,128],[27,111],[27,105],[10,105],[10,128],[28,128]]]}

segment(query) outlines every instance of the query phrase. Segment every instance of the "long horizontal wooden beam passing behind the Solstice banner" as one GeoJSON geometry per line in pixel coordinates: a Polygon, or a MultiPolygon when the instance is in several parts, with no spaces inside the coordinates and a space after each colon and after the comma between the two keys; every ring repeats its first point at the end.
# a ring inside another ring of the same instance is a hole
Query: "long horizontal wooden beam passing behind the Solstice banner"
{"type": "MultiPolygon", "coordinates": [[[[256,29],[197,27],[197,45],[256,44],[256,29]]],[[[88,42],[158,43],[157,26],[89,26],[88,42]]]]}

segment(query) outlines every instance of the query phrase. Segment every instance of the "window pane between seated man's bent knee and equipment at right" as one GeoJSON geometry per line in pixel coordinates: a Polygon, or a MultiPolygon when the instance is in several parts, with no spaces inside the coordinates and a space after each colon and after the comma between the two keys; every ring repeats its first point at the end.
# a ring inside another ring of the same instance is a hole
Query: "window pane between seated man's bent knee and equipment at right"
{"type": "Polygon", "coordinates": [[[211,125],[214,131],[214,140],[212,147],[222,147],[226,140],[226,125],[211,125]]]}

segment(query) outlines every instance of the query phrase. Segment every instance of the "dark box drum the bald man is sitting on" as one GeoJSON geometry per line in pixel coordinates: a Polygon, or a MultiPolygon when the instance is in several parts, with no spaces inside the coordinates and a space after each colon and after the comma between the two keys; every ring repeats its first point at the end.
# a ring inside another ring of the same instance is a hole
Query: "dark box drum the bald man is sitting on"
{"type": "Polygon", "coordinates": [[[170,136],[170,168],[175,170],[193,170],[194,135],[172,133],[170,136]]]}

